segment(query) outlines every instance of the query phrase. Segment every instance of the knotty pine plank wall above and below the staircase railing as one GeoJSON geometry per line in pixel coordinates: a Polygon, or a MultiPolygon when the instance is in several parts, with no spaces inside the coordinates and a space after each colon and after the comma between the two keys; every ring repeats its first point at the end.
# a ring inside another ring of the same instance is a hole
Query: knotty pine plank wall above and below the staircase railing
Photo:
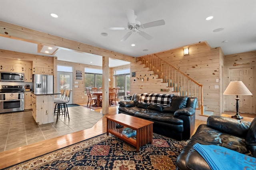
{"type": "MultiPolygon", "coordinates": [[[[220,80],[223,53],[220,48],[210,48],[206,42],[189,45],[189,55],[183,54],[183,48],[171,49],[156,53],[160,58],[173,64],[179,70],[203,85],[204,106],[220,115],[220,80]],[[218,82],[216,82],[218,80],[218,82]],[[215,88],[218,86],[219,88],[215,88]]],[[[153,73],[137,64],[131,64],[131,72],[136,72],[136,77],[131,77],[131,93],[157,92],[166,88],[161,79],[148,76],[153,73]],[[146,74],[146,76],[145,76],[146,74]],[[144,81],[141,81],[144,78],[144,81]],[[134,82],[134,79],[136,81],[134,82]]],[[[153,76],[153,75],[152,75],[153,76]]],[[[171,93],[171,92],[169,92],[171,93]]]]}

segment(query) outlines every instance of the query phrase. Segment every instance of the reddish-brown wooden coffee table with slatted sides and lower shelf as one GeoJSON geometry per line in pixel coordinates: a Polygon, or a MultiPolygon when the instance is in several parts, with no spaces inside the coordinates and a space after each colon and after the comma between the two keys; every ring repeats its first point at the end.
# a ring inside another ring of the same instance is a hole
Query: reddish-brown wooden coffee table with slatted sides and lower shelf
{"type": "Polygon", "coordinates": [[[145,119],[140,119],[138,117],[126,115],[124,113],[109,115],[107,118],[107,135],[111,133],[116,137],[130,143],[132,146],[136,147],[138,152],[140,147],[146,145],[147,143],[152,143],[153,141],[153,123],[145,119]],[[116,128],[116,125],[123,125],[122,128],[116,128]],[[134,137],[126,137],[122,134],[124,128],[130,127],[136,130],[136,139],[134,137]]]}

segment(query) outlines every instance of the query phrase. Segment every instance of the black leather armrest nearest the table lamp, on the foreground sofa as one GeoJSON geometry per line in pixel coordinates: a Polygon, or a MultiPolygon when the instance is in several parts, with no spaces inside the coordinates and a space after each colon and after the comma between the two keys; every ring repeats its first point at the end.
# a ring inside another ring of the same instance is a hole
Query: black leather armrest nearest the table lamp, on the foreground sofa
{"type": "Polygon", "coordinates": [[[209,116],[207,119],[207,126],[222,133],[245,138],[250,127],[250,122],[230,117],[209,116]]]}

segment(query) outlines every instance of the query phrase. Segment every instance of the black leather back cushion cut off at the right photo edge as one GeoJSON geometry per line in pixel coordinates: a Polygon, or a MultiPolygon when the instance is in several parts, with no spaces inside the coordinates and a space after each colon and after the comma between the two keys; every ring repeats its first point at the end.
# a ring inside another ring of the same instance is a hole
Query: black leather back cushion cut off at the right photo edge
{"type": "Polygon", "coordinates": [[[252,120],[245,140],[248,148],[256,158],[256,118],[252,120]]]}

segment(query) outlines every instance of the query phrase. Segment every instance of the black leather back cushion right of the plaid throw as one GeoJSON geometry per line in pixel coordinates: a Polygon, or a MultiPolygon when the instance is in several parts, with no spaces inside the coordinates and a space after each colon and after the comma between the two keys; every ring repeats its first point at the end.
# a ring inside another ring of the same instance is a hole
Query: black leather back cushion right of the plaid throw
{"type": "Polygon", "coordinates": [[[174,113],[178,109],[186,107],[188,97],[187,96],[172,96],[172,102],[170,107],[163,107],[163,112],[174,113]]]}

